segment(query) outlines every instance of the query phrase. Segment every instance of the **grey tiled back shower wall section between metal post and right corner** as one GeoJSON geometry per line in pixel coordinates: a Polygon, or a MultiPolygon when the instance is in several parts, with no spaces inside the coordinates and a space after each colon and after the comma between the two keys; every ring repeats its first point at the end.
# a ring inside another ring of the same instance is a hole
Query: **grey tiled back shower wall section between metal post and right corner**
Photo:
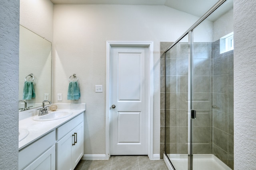
{"type": "Polygon", "coordinates": [[[194,154],[212,153],[212,43],[194,43],[192,109],[194,122],[194,154]]]}

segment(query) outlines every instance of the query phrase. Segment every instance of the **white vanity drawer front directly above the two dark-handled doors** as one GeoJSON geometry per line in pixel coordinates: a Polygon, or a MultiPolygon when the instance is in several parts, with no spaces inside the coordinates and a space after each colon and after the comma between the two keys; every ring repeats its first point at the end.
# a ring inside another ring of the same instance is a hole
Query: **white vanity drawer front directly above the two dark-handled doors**
{"type": "Polygon", "coordinates": [[[56,140],[60,140],[62,137],[64,137],[68,132],[70,132],[72,129],[74,129],[79,123],[84,121],[84,113],[81,113],[80,115],[76,116],[75,118],[71,119],[64,125],[61,125],[56,130],[56,140]]]}

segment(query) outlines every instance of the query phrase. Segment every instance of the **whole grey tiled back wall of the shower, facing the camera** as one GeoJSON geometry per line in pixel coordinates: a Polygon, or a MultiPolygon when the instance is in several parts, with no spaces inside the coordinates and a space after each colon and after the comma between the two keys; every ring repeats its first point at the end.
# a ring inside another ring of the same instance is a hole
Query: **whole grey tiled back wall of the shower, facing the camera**
{"type": "MultiPolygon", "coordinates": [[[[163,48],[165,43],[161,44],[163,48]]],[[[178,43],[166,53],[166,76],[162,69],[162,104],[166,89],[166,153],[188,153],[188,43],[178,43]],[[165,79],[166,78],[166,84],[165,79]],[[164,88],[166,85],[166,88],[164,88]]],[[[162,56],[162,68],[164,68],[162,56]]],[[[212,43],[194,43],[194,153],[212,153],[212,43]]],[[[161,107],[164,112],[164,105],[161,107]]],[[[164,126],[164,123],[162,123],[164,126]]],[[[162,127],[164,129],[164,127],[162,127]]],[[[162,132],[162,134],[164,134],[162,132]]],[[[164,143],[164,140],[161,142],[164,143]]]]}

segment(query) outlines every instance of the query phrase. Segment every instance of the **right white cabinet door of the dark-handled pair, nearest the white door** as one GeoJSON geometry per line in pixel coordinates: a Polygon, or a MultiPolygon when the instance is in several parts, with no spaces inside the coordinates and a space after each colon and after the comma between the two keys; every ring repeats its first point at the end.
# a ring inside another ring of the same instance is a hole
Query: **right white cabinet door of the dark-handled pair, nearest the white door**
{"type": "Polygon", "coordinates": [[[75,136],[72,141],[76,143],[72,145],[72,169],[76,167],[84,154],[84,123],[80,123],[73,132],[75,136]]]}

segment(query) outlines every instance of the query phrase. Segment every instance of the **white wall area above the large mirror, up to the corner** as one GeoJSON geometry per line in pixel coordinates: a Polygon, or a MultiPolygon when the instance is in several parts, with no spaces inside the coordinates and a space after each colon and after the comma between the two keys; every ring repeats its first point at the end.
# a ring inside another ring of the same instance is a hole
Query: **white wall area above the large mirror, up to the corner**
{"type": "Polygon", "coordinates": [[[50,0],[20,0],[20,25],[52,42],[52,2],[50,0]]]}

